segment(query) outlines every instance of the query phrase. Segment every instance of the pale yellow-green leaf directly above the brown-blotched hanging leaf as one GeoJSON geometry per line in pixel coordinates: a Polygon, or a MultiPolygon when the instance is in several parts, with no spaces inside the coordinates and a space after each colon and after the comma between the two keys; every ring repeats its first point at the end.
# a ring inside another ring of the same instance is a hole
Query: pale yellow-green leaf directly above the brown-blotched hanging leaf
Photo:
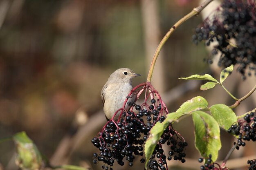
{"type": "Polygon", "coordinates": [[[207,105],[208,103],[206,99],[204,99],[204,97],[197,96],[183,103],[176,112],[184,113],[184,112],[192,112],[195,110],[202,110],[204,108],[207,108],[207,105]]]}

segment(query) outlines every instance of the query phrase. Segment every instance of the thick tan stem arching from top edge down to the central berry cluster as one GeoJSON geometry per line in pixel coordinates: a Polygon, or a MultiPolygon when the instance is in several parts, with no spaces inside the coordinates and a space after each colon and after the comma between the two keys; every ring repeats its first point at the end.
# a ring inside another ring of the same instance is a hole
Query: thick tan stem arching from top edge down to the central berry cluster
{"type": "Polygon", "coordinates": [[[176,22],[171,29],[166,33],[166,35],[164,35],[164,38],[161,40],[161,42],[159,43],[159,45],[157,46],[157,49],[155,51],[155,54],[153,56],[153,60],[150,64],[150,68],[149,68],[149,72],[148,72],[148,77],[147,77],[147,82],[151,82],[151,78],[152,78],[152,74],[153,74],[153,70],[154,70],[154,66],[155,66],[155,62],[157,60],[157,57],[162,49],[162,47],[164,46],[165,42],[168,40],[168,38],[172,35],[172,33],[174,32],[174,30],[179,27],[183,22],[185,22],[186,20],[188,20],[189,18],[198,15],[202,9],[204,9],[210,2],[212,2],[213,0],[206,0],[204,1],[202,4],[200,4],[200,6],[194,8],[190,13],[188,13],[187,15],[185,15],[182,19],[180,19],[178,22],[176,22]]]}

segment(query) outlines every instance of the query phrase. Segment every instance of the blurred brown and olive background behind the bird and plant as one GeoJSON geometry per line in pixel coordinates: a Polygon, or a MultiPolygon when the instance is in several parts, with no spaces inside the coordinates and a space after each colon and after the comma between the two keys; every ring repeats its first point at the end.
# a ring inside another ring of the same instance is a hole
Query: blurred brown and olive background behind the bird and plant
{"type": "MultiPolygon", "coordinates": [[[[1,0],[0,1],[0,138],[25,131],[54,165],[92,164],[97,152],[90,143],[106,123],[100,92],[117,68],[141,74],[133,84],[146,81],[155,49],[171,26],[198,0],[1,0]]],[[[196,95],[209,105],[234,104],[222,88],[200,92],[199,83],[177,80],[192,74],[218,76],[221,68],[203,62],[209,58],[204,44],[191,42],[202,16],[180,26],[164,45],[152,84],[162,94],[170,112],[196,95]]],[[[216,62],[215,62],[216,63],[216,62]]],[[[218,79],[218,77],[217,77],[218,79]]],[[[225,86],[238,98],[256,84],[255,77],[240,80],[233,73],[225,86]]],[[[237,113],[256,106],[256,95],[243,102],[237,113]]],[[[188,141],[188,160],[173,161],[173,169],[199,169],[193,144],[191,118],[174,128],[188,141]]],[[[232,146],[223,132],[220,160],[232,146]]],[[[255,144],[252,144],[255,145],[255,144]]],[[[14,144],[0,143],[0,169],[17,170],[14,144]]],[[[239,150],[233,157],[252,155],[239,150]]],[[[252,152],[252,151],[251,151],[252,152]]],[[[115,170],[143,169],[114,166],[115,170]]],[[[246,165],[246,162],[243,162],[246,165]]]]}

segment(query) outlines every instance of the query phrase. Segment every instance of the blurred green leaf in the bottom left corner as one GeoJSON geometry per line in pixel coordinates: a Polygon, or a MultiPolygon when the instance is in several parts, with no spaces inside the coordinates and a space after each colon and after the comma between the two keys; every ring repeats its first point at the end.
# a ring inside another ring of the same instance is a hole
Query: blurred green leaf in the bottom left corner
{"type": "Polygon", "coordinates": [[[36,145],[25,132],[13,135],[16,145],[16,164],[22,170],[39,170],[42,165],[42,157],[36,145]]]}

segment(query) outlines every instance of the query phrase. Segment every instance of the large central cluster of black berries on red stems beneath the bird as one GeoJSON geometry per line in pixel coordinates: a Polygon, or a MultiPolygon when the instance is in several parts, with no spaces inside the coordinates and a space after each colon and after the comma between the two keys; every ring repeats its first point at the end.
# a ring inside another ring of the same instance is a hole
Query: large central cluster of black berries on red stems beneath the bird
{"type": "MultiPolygon", "coordinates": [[[[99,152],[93,155],[93,163],[102,161],[104,163],[102,166],[103,169],[111,170],[114,162],[124,166],[124,160],[128,161],[128,166],[131,167],[133,166],[132,162],[135,156],[141,156],[140,161],[144,163],[144,143],[148,138],[150,129],[156,122],[164,121],[168,114],[168,110],[164,102],[162,102],[159,93],[149,82],[133,88],[127,99],[132,95],[136,95],[137,104],[128,102],[127,105],[131,106],[129,110],[125,110],[124,108],[117,110],[115,115],[121,112],[118,119],[110,119],[110,121],[103,126],[98,137],[92,139],[92,144],[99,148],[99,152]],[[145,93],[145,97],[144,101],[141,103],[139,96],[143,92],[145,93]],[[133,109],[135,111],[133,111],[133,109]]],[[[115,117],[115,115],[113,117],[115,117]]],[[[170,124],[164,130],[161,139],[154,149],[153,155],[148,162],[149,169],[168,169],[166,158],[171,160],[173,157],[174,160],[185,162],[185,146],[187,146],[187,143],[170,124]],[[170,146],[168,157],[166,157],[162,149],[162,144],[165,143],[170,146]]]]}

